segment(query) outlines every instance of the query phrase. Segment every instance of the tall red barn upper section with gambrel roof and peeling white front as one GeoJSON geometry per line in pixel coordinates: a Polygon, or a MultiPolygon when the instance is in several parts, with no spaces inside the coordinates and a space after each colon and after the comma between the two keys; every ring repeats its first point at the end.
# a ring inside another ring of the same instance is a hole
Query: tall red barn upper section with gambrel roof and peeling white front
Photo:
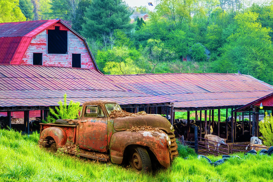
{"type": "Polygon", "coordinates": [[[0,23],[0,64],[99,71],[86,40],[60,20],[0,23]]]}

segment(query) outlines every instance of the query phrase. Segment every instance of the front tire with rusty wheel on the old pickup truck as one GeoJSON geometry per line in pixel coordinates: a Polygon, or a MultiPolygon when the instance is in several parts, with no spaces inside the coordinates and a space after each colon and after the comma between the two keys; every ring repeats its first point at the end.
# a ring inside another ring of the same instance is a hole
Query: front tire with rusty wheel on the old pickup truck
{"type": "Polygon", "coordinates": [[[149,154],[143,147],[134,147],[131,149],[129,162],[133,168],[142,170],[144,173],[152,171],[152,163],[149,154]]]}

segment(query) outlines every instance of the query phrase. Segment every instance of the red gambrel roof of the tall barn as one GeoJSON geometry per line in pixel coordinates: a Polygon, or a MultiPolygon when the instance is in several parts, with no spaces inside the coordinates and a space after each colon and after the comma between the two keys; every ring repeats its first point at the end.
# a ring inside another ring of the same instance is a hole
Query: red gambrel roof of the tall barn
{"type": "Polygon", "coordinates": [[[0,64],[20,64],[32,37],[58,21],[0,23],[0,64]]]}

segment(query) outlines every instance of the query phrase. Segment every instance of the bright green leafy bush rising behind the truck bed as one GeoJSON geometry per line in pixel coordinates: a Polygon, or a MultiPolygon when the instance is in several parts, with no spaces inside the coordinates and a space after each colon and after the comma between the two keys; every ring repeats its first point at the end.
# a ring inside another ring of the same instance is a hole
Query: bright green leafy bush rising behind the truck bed
{"type": "Polygon", "coordinates": [[[49,108],[49,116],[47,117],[47,122],[52,123],[57,119],[77,119],[79,117],[79,110],[81,107],[79,106],[79,102],[73,102],[70,100],[69,105],[66,104],[66,94],[63,96],[63,102],[60,100],[58,102],[59,107],[55,106],[55,110],[49,108]]]}

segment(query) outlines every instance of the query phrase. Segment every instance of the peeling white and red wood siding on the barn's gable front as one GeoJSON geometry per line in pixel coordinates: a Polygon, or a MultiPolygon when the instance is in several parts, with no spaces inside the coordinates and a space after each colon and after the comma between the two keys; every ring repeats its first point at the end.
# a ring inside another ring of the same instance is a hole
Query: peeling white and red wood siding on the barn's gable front
{"type": "Polygon", "coordinates": [[[48,54],[46,47],[46,30],[33,37],[25,52],[21,64],[33,64],[33,53],[43,53],[42,64],[45,66],[65,66],[72,67],[72,54],[81,54],[81,68],[95,69],[94,62],[89,55],[86,46],[73,32],[68,31],[68,53],[48,54]]]}

